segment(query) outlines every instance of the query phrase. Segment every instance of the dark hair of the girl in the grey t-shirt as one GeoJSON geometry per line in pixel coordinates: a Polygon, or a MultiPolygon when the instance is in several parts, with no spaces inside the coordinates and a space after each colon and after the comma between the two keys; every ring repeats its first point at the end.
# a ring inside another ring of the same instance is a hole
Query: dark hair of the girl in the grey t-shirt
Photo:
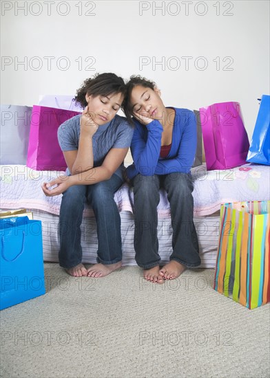
{"type": "Polygon", "coordinates": [[[95,74],[93,78],[84,80],[81,88],[77,89],[73,101],[85,108],[87,106],[86,94],[96,97],[109,96],[112,93],[123,93],[125,96],[126,85],[123,78],[112,73],[95,74]]]}

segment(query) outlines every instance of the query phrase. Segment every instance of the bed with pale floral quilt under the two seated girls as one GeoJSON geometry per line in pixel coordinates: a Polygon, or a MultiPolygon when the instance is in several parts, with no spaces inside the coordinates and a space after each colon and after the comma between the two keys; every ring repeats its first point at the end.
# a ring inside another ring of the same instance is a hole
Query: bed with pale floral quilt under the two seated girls
{"type": "MultiPolygon", "coordinates": [[[[61,196],[46,197],[41,184],[63,174],[37,171],[25,165],[2,165],[0,175],[1,209],[26,208],[42,222],[43,259],[57,262],[59,251],[59,210],[61,196]]],[[[200,247],[201,268],[214,268],[219,237],[220,205],[232,201],[268,200],[269,166],[245,164],[229,170],[207,171],[205,164],[191,168],[194,181],[194,223],[200,247]]],[[[123,265],[134,260],[133,188],[123,184],[114,199],[121,215],[123,265]]],[[[94,213],[85,206],[81,225],[83,263],[96,263],[97,236],[94,213]]],[[[163,263],[172,253],[172,226],[165,190],[160,190],[158,204],[159,253],[163,263]]]]}

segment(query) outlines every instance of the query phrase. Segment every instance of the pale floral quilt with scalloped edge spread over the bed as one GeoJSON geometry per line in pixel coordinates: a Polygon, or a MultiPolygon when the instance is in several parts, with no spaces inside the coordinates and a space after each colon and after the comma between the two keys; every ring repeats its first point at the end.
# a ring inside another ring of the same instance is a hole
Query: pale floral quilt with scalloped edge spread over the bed
{"type": "MultiPolygon", "coordinates": [[[[213,214],[225,202],[268,200],[269,173],[269,166],[259,164],[245,164],[228,170],[207,171],[205,165],[192,168],[194,216],[213,214]]],[[[56,171],[36,171],[26,166],[1,166],[1,208],[28,208],[58,215],[62,196],[46,197],[41,184],[61,174],[56,171]]],[[[133,188],[123,184],[114,199],[120,212],[133,212],[133,188]]],[[[161,189],[158,216],[166,217],[169,214],[167,194],[161,189]]],[[[88,205],[85,216],[93,216],[88,205]]]]}

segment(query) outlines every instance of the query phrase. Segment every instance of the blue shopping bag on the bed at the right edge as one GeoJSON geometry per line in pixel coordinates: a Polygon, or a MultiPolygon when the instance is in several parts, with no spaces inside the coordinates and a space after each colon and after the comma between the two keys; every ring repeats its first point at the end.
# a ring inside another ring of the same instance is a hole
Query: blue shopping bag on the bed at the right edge
{"type": "Polygon", "coordinates": [[[247,162],[270,166],[270,96],[262,95],[247,162]]]}

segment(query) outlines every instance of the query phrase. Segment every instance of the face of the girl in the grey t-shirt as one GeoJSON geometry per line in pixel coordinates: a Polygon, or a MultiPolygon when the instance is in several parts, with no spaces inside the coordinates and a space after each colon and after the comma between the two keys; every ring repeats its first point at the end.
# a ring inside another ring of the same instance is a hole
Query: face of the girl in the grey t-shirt
{"type": "Polygon", "coordinates": [[[123,93],[112,93],[107,96],[86,95],[89,113],[93,121],[101,126],[110,122],[118,112],[123,102],[123,93]]]}

